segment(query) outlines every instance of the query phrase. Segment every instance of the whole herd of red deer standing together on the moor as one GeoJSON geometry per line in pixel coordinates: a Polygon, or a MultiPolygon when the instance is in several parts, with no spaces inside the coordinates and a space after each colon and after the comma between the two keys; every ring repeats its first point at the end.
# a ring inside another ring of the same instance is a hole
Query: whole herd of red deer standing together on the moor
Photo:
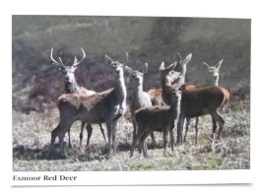
{"type": "Polygon", "coordinates": [[[130,112],[133,123],[133,141],[130,157],[133,157],[134,150],[138,145],[139,153],[143,151],[144,157],[147,157],[147,142],[145,140],[149,135],[152,137],[153,145],[156,145],[154,132],[162,132],[163,135],[163,155],[165,156],[165,147],[167,141],[173,151],[173,129],[177,130],[176,143],[186,141],[187,130],[190,119],[196,117],[196,137],[198,135],[198,117],[210,114],[213,119],[213,133],[215,137],[217,122],[220,125],[217,139],[221,137],[224,129],[224,119],[220,115],[219,109],[228,101],[229,93],[222,87],[219,87],[219,73],[223,59],[215,66],[207,67],[209,74],[213,78],[213,86],[196,88],[195,86],[186,86],[185,75],[187,64],[192,58],[189,54],[182,59],[177,54],[176,62],[165,67],[162,62],[160,65],[160,84],[161,89],[143,91],[144,74],[147,73],[148,64],[144,64],[139,70],[133,70],[126,64],[128,62],[128,53],[126,53],[122,62],[114,61],[105,55],[107,63],[115,74],[115,87],[101,93],[87,90],[79,87],[75,78],[77,66],[86,58],[86,53],[82,49],[83,57],[75,60],[72,66],[63,64],[59,57],[56,61],[53,58],[53,48],[51,49],[51,63],[65,76],[65,93],[58,98],[58,109],[60,113],[60,122],[51,132],[51,141],[49,152],[53,149],[56,137],[59,138],[60,158],[65,158],[64,136],[68,132],[69,146],[71,147],[70,128],[72,124],[80,120],[82,122],[80,133],[80,145],[83,140],[83,129],[86,125],[88,132],[87,147],[90,145],[90,138],[93,132],[92,124],[98,124],[103,135],[108,154],[116,152],[116,128],[118,119],[126,111],[126,87],[124,81],[124,72],[132,77],[134,82],[134,91],[130,103],[130,112]],[[184,138],[182,138],[183,125],[186,119],[186,129],[184,138]],[[108,142],[106,142],[102,123],[105,123],[108,142]],[[168,137],[167,137],[168,136],[168,137]]]}

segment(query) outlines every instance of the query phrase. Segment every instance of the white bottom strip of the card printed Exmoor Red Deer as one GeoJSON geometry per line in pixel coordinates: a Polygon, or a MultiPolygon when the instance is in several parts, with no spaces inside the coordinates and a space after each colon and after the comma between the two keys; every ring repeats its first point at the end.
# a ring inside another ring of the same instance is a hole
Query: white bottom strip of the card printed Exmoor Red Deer
{"type": "Polygon", "coordinates": [[[38,177],[38,181],[13,181],[13,186],[19,185],[177,185],[177,184],[226,184],[252,183],[252,171],[239,170],[168,170],[168,171],[54,171],[54,172],[20,172],[16,176],[38,177]],[[44,175],[54,177],[55,181],[44,181],[44,175]],[[77,176],[74,181],[60,180],[60,175],[77,176]]]}

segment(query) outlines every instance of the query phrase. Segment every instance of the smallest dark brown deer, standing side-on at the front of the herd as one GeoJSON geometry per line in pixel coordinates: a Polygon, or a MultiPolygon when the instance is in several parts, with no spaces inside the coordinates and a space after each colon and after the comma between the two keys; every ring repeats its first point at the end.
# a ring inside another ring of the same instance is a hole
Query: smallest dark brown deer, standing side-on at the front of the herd
{"type": "Polygon", "coordinates": [[[133,157],[134,148],[140,140],[143,148],[144,157],[148,157],[146,151],[146,138],[154,131],[162,132],[163,136],[163,156],[165,156],[165,148],[167,141],[167,132],[170,133],[170,145],[173,151],[173,129],[177,127],[180,113],[181,91],[180,87],[170,88],[171,90],[171,106],[149,106],[143,107],[136,111],[135,118],[138,124],[138,134],[133,140],[130,158],[133,157]]]}

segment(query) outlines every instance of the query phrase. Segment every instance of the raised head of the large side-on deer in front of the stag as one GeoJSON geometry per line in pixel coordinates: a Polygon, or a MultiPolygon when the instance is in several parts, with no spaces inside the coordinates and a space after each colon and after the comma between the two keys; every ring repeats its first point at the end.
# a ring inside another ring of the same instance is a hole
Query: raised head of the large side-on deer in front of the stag
{"type": "Polygon", "coordinates": [[[123,59],[122,63],[120,63],[119,61],[113,61],[110,57],[108,57],[107,55],[105,55],[106,61],[107,63],[112,67],[113,71],[115,72],[116,76],[118,77],[123,77],[123,70],[126,69],[130,69],[128,67],[126,67],[126,63],[128,62],[128,53],[126,52],[125,54],[126,59],[123,59]]]}

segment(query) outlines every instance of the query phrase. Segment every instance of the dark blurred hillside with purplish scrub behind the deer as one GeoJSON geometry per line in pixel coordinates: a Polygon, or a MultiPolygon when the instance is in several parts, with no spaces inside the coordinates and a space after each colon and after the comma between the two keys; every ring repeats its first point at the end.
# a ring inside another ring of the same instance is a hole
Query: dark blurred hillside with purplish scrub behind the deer
{"type": "Polygon", "coordinates": [[[250,92],[250,41],[251,21],[245,19],[13,16],[13,109],[56,107],[64,78],[50,64],[51,47],[66,65],[74,55],[81,58],[83,47],[87,57],[77,82],[96,92],[113,87],[105,54],[121,60],[127,51],[127,65],[134,69],[149,63],[145,91],[160,88],[160,63],[172,63],[177,52],[193,54],[186,81],[196,87],[211,85],[202,62],[214,65],[224,58],[219,84],[231,97],[243,98],[250,92]]]}

